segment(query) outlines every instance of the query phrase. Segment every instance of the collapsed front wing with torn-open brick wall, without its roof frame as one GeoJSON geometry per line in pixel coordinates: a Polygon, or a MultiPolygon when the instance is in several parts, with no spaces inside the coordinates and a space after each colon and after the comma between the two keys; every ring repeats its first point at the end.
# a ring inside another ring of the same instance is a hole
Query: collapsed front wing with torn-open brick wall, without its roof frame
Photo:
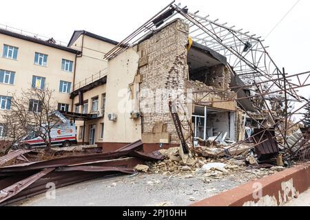
{"type": "MultiPolygon", "coordinates": [[[[242,129],[242,113],[237,102],[214,102],[236,97],[229,89],[231,72],[227,59],[192,42],[189,27],[182,19],[175,19],[145,36],[109,61],[107,69],[106,79],[101,83],[97,81],[86,90],[84,87],[72,93],[73,102],[79,103],[82,93],[84,97],[94,96],[94,90],[104,87],[97,92],[105,92],[103,148],[107,145],[117,148],[139,139],[149,151],[178,145],[168,109],[168,102],[173,98],[182,102],[178,103],[178,113],[183,113],[186,139],[194,135],[207,140],[221,135],[232,141],[240,140],[238,129],[242,129]],[[199,91],[205,92],[195,93],[199,91]],[[197,100],[212,103],[195,104],[197,100]],[[123,106],[120,107],[120,103],[123,106]]],[[[91,124],[97,124],[96,119],[85,122],[86,127],[91,124]]]]}

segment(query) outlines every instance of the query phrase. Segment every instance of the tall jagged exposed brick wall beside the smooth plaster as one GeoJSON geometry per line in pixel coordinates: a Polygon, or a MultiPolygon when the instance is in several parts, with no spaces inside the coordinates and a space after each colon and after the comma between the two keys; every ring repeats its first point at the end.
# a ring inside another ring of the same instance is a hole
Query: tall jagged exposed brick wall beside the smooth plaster
{"type": "MultiPolygon", "coordinates": [[[[180,19],[138,45],[141,54],[139,74],[141,83],[141,111],[143,133],[152,133],[155,122],[167,124],[170,142],[178,143],[174,123],[169,113],[169,96],[180,91],[184,94],[188,77],[187,40],[188,25],[180,19]]],[[[181,98],[185,100],[185,98],[181,98]]]]}

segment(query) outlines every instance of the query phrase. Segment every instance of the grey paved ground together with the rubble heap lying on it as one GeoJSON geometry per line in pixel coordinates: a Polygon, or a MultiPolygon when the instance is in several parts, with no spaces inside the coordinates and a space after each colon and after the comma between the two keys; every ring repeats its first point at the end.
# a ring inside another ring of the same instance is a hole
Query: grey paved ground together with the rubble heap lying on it
{"type": "Polygon", "coordinates": [[[56,199],[39,195],[21,206],[188,206],[248,181],[285,168],[256,168],[245,159],[191,158],[183,162],[178,148],[161,150],[166,159],[136,166],[141,173],[103,177],[56,190],[56,199]],[[148,173],[145,173],[148,170],[148,173]]]}

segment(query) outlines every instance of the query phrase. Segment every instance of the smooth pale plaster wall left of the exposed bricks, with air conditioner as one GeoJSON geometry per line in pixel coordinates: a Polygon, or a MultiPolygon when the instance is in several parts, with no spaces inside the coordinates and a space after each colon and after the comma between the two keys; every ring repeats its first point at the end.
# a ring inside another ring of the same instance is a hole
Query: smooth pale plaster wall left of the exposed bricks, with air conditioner
{"type": "Polygon", "coordinates": [[[134,142],[141,139],[141,118],[131,119],[130,109],[120,112],[119,104],[126,105],[130,100],[118,97],[118,92],[125,89],[130,94],[129,85],[133,83],[138,69],[138,54],[128,49],[109,61],[107,76],[107,98],[105,104],[104,142],[134,142]],[[107,119],[108,113],[116,113],[116,122],[107,119]]]}

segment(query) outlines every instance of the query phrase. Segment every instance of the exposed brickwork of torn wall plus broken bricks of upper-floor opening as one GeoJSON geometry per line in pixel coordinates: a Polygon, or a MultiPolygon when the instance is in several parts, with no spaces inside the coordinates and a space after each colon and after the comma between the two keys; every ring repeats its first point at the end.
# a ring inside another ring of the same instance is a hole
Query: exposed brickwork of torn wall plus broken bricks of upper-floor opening
{"type": "MultiPolygon", "coordinates": [[[[142,78],[140,84],[140,107],[143,112],[142,132],[152,133],[155,123],[163,122],[167,124],[167,132],[171,134],[171,144],[177,144],[179,140],[169,113],[169,100],[178,98],[176,104],[185,107],[187,104],[185,94],[206,89],[210,89],[211,93],[195,94],[194,100],[201,98],[202,101],[214,101],[236,97],[233,91],[223,92],[224,89],[229,88],[230,83],[230,73],[224,65],[209,69],[212,77],[207,79],[207,85],[199,81],[188,80],[188,31],[188,25],[177,19],[138,45],[138,53],[141,56],[138,73],[142,78]]],[[[209,106],[236,110],[236,102],[223,102],[222,105],[217,103],[216,106],[209,104],[209,106]]],[[[184,110],[179,108],[178,112],[184,128],[183,133],[187,138],[192,134],[189,133],[190,129],[184,117],[184,110]]],[[[190,117],[189,120],[191,120],[190,117]]]]}

